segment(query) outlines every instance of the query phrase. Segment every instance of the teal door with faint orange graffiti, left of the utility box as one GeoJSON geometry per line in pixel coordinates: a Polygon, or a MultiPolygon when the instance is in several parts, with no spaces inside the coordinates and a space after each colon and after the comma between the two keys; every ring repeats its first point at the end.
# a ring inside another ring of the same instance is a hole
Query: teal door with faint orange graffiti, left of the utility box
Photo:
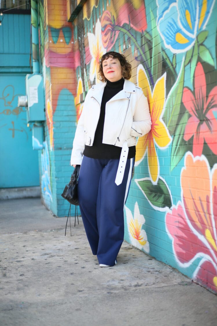
{"type": "Polygon", "coordinates": [[[25,95],[25,75],[0,76],[0,188],[39,185],[38,151],[18,96],[25,95]]]}

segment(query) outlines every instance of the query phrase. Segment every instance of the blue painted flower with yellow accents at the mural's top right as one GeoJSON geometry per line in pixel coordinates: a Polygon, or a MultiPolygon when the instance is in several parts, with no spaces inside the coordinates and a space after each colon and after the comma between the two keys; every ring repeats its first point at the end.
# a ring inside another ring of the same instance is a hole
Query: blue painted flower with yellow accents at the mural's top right
{"type": "Polygon", "coordinates": [[[215,0],[157,0],[157,27],[166,48],[186,52],[210,18],[215,0]]]}

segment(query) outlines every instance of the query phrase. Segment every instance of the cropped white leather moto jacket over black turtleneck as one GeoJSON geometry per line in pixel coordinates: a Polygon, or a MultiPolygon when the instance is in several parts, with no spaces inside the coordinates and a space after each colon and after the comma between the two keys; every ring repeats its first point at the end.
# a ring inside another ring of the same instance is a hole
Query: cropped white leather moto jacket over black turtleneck
{"type": "MultiPolygon", "coordinates": [[[[93,145],[105,86],[105,82],[93,85],[85,97],[73,141],[71,165],[81,164],[85,145],[93,145]]],[[[129,147],[136,145],[136,137],[142,137],[150,130],[147,98],[140,87],[125,80],[123,90],[106,103],[102,142],[118,147],[127,143],[129,147]]]]}

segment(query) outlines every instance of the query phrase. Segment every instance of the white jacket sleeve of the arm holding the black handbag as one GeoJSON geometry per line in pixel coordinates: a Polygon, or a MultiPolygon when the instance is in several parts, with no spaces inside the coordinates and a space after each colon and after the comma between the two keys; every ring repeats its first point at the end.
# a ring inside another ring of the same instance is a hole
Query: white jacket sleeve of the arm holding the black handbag
{"type": "Polygon", "coordinates": [[[84,133],[84,107],[78,120],[75,131],[75,138],[73,141],[73,149],[71,154],[70,164],[81,164],[82,156],[85,147],[85,133],[84,133]]]}

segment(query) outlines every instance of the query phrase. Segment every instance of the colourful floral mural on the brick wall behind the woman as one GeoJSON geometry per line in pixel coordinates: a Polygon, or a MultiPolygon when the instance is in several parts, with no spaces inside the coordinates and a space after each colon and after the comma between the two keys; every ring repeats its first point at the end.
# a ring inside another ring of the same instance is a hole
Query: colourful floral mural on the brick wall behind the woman
{"type": "Polygon", "coordinates": [[[44,5],[48,155],[61,90],[74,96],[78,120],[88,89],[99,82],[100,56],[124,53],[152,118],[151,131],[137,141],[125,239],[216,293],[215,0],[89,0],[73,23],[58,13],[65,1],[44,5]]]}

